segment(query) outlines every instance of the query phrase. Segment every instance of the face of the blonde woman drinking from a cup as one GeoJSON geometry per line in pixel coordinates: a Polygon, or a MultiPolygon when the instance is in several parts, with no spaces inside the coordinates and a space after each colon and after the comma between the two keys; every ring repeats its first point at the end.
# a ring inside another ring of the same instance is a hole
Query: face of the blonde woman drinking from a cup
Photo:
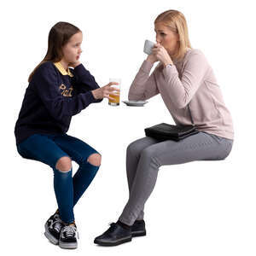
{"type": "Polygon", "coordinates": [[[160,22],[154,24],[156,42],[161,44],[169,55],[174,55],[178,47],[178,34],[160,22]]]}

